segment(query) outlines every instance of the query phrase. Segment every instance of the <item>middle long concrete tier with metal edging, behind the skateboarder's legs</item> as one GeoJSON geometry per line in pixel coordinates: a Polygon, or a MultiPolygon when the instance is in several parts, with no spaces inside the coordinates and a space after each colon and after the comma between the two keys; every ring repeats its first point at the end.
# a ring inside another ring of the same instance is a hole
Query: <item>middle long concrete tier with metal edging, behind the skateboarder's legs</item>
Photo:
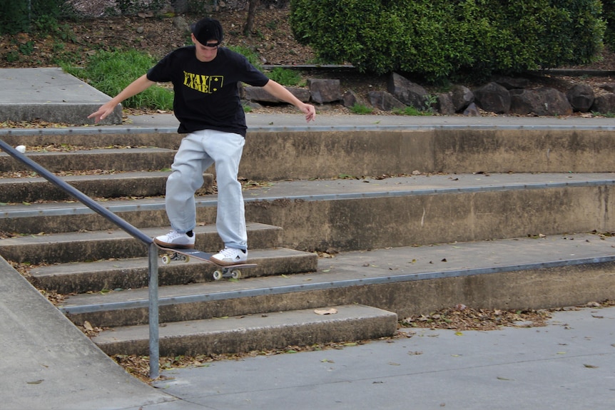
{"type": "MultiPolygon", "coordinates": [[[[246,219],[283,228],[279,246],[365,250],[561,232],[615,231],[613,173],[438,174],[293,180],[244,191],[246,219]]],[[[215,222],[215,195],[197,220],[215,222]]],[[[104,205],[138,227],[164,225],[162,198],[104,205]]],[[[0,231],[62,232],[113,226],[76,203],[0,207],[0,231]]]]}

